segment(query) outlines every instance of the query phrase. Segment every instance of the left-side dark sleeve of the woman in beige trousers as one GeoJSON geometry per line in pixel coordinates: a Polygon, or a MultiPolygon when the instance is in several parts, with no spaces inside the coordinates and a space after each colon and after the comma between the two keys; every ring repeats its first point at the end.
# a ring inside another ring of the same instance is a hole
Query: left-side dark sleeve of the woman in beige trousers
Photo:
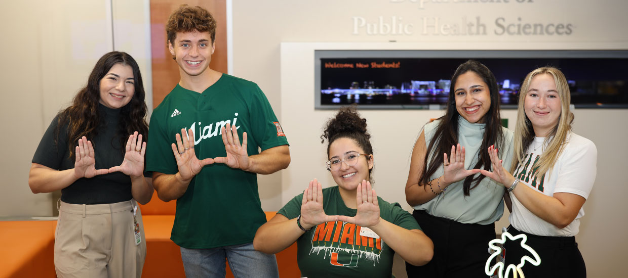
{"type": "Polygon", "coordinates": [[[43,137],[41,137],[41,141],[37,146],[35,155],[33,155],[33,163],[38,163],[44,165],[45,167],[59,170],[64,156],[67,155],[66,148],[68,145],[68,139],[67,136],[65,136],[67,134],[67,130],[65,128],[59,130],[59,136],[57,138],[55,130],[57,129],[58,123],[59,115],[55,116],[48,126],[48,129],[43,134],[43,137]],[[57,143],[55,143],[55,139],[57,139],[57,143]]]}

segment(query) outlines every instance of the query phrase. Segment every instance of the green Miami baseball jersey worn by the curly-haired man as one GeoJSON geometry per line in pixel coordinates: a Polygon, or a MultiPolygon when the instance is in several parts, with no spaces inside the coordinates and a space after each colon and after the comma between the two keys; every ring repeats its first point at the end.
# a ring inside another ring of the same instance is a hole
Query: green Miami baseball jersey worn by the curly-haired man
{"type": "MultiPolygon", "coordinates": [[[[146,146],[146,171],[178,172],[171,143],[181,128],[192,129],[198,159],[226,155],[220,128],[227,123],[247,133],[247,152],[259,153],[288,145],[266,96],[251,81],[223,74],[203,93],[179,85],[151,116],[146,146]]],[[[207,249],[253,241],[266,223],[257,191],[256,173],[215,163],[203,167],[176,200],[170,239],[190,249],[207,249]]]]}

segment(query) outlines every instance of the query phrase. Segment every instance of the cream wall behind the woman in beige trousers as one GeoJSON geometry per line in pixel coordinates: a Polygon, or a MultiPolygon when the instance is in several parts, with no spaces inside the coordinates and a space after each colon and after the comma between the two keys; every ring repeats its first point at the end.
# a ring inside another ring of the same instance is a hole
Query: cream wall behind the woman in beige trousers
{"type": "Polygon", "coordinates": [[[1,5],[0,127],[6,133],[0,139],[0,217],[52,215],[51,193],[33,194],[28,188],[33,153],[102,54],[113,49],[131,54],[152,100],[146,4],[38,0],[1,5]],[[112,18],[117,19],[113,26],[112,18]]]}

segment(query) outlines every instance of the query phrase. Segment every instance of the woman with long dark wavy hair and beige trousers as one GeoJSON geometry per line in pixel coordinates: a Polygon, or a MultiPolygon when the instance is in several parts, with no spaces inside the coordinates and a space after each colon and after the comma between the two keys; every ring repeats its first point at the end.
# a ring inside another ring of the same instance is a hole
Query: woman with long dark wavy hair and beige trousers
{"type": "Polygon", "coordinates": [[[144,178],[145,117],[138,63],[114,51],[99,59],[41,138],[28,184],[33,193],[62,192],[58,277],[141,276],[146,240],[136,202],[153,195],[144,178]]]}

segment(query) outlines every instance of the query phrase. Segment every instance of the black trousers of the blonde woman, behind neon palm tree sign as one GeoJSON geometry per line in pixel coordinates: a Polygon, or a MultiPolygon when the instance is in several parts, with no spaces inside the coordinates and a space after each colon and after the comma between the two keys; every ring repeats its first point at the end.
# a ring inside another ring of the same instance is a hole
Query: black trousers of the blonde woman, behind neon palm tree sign
{"type": "MultiPolygon", "coordinates": [[[[539,257],[541,264],[534,266],[529,262],[521,268],[526,277],[587,277],[587,268],[582,254],[578,250],[575,237],[544,237],[521,232],[509,226],[511,235],[525,234],[528,236],[526,244],[532,247],[539,257]]],[[[506,241],[506,265],[519,264],[521,257],[529,255],[528,250],[521,248],[521,242],[506,241]]]]}

